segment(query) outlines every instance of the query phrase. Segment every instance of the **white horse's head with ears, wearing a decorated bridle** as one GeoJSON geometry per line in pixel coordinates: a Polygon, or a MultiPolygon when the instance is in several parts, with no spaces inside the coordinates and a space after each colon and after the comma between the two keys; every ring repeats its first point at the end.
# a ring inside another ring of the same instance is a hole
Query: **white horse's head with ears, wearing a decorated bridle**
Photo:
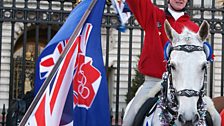
{"type": "Polygon", "coordinates": [[[171,41],[166,45],[170,73],[169,86],[174,90],[178,104],[177,120],[181,125],[194,124],[200,120],[199,102],[202,102],[204,74],[211,58],[210,46],[204,43],[209,24],[204,21],[198,33],[184,29],[178,34],[165,21],[165,31],[171,41]],[[171,84],[171,85],[170,85],[171,84]]]}

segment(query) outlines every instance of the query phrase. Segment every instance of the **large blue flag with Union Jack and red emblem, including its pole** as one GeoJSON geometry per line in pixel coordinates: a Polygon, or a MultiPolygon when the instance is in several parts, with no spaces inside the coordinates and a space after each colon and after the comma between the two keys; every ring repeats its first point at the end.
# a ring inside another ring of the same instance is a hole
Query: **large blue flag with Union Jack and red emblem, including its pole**
{"type": "Polygon", "coordinates": [[[100,30],[104,6],[105,0],[81,1],[40,54],[36,97],[20,126],[110,125],[100,30]]]}

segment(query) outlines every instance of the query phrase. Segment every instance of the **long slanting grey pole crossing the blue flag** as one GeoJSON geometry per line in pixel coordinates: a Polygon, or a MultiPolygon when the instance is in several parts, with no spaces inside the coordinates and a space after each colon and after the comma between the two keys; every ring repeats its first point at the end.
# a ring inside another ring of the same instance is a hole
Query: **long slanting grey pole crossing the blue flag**
{"type": "Polygon", "coordinates": [[[62,60],[64,59],[64,57],[68,53],[69,49],[71,48],[72,43],[75,41],[75,38],[78,36],[81,28],[83,27],[86,19],[88,18],[89,14],[91,13],[91,11],[92,11],[93,7],[95,6],[96,2],[97,2],[97,0],[92,0],[92,2],[90,3],[89,7],[86,10],[86,12],[83,14],[83,16],[82,16],[81,20],[79,21],[77,27],[75,28],[75,30],[73,31],[70,39],[68,40],[68,44],[66,45],[66,47],[65,47],[64,51],[62,52],[62,54],[60,55],[60,57],[58,58],[58,61],[56,62],[53,69],[51,70],[49,76],[46,78],[46,80],[42,84],[42,86],[41,86],[40,90],[38,91],[36,97],[34,98],[32,103],[30,104],[30,107],[28,108],[27,112],[25,113],[24,117],[22,118],[19,126],[25,126],[25,124],[27,123],[27,121],[28,121],[30,115],[32,114],[35,106],[37,105],[38,101],[41,99],[41,96],[43,95],[46,88],[48,87],[48,85],[52,81],[53,77],[55,76],[58,67],[60,66],[62,60]]]}

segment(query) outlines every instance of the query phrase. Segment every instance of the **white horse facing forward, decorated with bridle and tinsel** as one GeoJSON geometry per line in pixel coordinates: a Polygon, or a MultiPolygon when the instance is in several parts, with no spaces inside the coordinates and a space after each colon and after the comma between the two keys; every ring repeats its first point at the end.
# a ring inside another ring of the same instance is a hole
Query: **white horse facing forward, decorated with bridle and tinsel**
{"type": "MultiPolygon", "coordinates": [[[[184,29],[178,34],[165,21],[165,31],[172,43],[165,47],[167,72],[163,76],[161,94],[144,122],[136,124],[136,116],[134,125],[210,126],[206,124],[206,112],[209,112],[213,126],[221,126],[212,100],[204,95],[204,75],[211,60],[211,48],[204,42],[209,33],[208,23],[203,21],[198,33],[184,29]]],[[[158,86],[151,91],[150,95],[154,96],[152,92],[156,94],[158,86]]]]}

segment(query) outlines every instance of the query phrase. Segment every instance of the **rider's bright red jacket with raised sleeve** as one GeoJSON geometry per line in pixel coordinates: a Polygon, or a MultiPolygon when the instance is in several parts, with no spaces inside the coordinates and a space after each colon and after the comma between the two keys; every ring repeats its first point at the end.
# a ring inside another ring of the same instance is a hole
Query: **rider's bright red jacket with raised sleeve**
{"type": "Polygon", "coordinates": [[[181,33],[184,26],[197,32],[199,27],[185,14],[177,21],[169,14],[155,6],[151,0],[126,0],[135,18],[145,31],[144,46],[138,63],[139,72],[161,78],[166,70],[163,47],[168,41],[164,30],[167,19],[171,26],[181,33]]]}

